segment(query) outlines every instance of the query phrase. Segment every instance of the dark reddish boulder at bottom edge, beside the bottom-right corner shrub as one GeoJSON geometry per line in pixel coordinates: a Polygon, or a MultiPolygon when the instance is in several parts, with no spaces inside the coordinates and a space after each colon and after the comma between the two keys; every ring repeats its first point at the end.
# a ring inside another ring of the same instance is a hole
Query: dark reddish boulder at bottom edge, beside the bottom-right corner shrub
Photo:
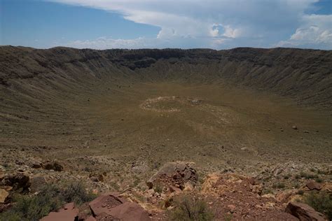
{"type": "Polygon", "coordinates": [[[286,206],[286,213],[296,216],[300,221],[324,221],[320,213],[307,204],[289,202],[286,206]]]}

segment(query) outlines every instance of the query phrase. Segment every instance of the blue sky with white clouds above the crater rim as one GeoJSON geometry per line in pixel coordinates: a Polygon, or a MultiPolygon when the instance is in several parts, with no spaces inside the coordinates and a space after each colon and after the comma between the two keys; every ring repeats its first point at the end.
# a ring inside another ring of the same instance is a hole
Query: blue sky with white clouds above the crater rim
{"type": "Polygon", "coordinates": [[[0,45],[332,50],[332,0],[0,0],[0,45]]]}

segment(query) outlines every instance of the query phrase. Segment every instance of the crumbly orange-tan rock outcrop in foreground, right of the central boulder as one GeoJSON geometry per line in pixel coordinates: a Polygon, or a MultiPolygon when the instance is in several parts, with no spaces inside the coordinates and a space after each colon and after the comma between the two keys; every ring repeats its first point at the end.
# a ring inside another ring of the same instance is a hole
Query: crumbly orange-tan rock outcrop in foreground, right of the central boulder
{"type": "Polygon", "coordinates": [[[297,220],[284,212],[284,204],[274,197],[262,197],[261,184],[254,178],[235,173],[212,173],[202,184],[202,195],[213,208],[216,220],[225,214],[232,220],[297,220]]]}

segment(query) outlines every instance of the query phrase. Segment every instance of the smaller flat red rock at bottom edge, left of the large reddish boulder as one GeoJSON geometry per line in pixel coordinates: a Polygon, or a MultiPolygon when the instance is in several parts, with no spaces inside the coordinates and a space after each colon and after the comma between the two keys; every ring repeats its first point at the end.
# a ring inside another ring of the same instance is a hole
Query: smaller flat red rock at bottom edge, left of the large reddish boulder
{"type": "Polygon", "coordinates": [[[74,221],[77,215],[78,208],[74,207],[74,203],[69,203],[57,212],[50,212],[46,217],[41,218],[41,221],[74,221]]]}

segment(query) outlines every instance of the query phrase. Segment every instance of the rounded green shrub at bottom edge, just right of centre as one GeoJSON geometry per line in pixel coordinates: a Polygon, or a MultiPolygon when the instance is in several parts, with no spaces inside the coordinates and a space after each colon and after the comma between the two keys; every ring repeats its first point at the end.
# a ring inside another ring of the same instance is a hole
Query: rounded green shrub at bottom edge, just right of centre
{"type": "Polygon", "coordinates": [[[174,199],[174,209],[170,211],[170,220],[213,220],[214,214],[202,199],[183,195],[174,199]]]}

